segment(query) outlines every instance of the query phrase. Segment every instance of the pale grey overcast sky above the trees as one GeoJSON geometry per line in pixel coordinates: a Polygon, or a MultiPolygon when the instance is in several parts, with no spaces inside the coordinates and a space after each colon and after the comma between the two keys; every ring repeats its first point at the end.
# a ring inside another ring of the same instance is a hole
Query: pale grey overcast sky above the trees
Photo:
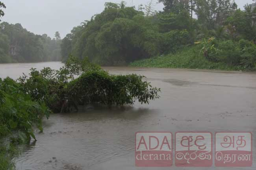
{"type": "MultiPolygon", "coordinates": [[[[35,34],[54,36],[59,31],[65,37],[74,26],[102,12],[105,2],[120,3],[121,0],[1,0],[6,4],[6,15],[2,21],[12,24],[20,23],[28,31],[35,34]]],[[[157,0],[156,0],[157,1],[157,0]]],[[[241,9],[252,0],[235,0],[241,9]]],[[[126,0],[127,6],[147,4],[148,0],[126,0]]],[[[155,6],[157,11],[163,9],[162,4],[155,6]]]]}

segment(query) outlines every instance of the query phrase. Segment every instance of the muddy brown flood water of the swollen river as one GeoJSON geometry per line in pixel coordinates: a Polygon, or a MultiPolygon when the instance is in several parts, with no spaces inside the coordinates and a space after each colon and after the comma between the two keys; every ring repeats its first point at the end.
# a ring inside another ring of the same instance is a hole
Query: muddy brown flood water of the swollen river
{"type": "MultiPolygon", "coordinates": [[[[60,62],[0,64],[0,77],[18,78],[29,68],[60,62]]],[[[135,132],[250,131],[256,136],[256,73],[105,67],[111,74],[145,75],[161,98],[122,108],[85,106],[79,113],[52,114],[44,132],[15,158],[18,170],[255,170],[249,168],[138,168],[135,132]],[[56,159],[52,159],[56,157],[56,159]]],[[[256,143],[253,143],[253,150],[256,143]]],[[[213,164],[214,165],[214,164],[213,164]]]]}

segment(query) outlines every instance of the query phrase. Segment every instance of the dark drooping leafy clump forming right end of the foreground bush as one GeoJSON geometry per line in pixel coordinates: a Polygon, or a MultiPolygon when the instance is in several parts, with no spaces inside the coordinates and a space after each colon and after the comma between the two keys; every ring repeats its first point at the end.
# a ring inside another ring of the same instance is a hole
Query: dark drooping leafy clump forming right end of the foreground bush
{"type": "Polygon", "coordinates": [[[149,100],[159,98],[160,89],[152,88],[143,78],[134,74],[115,76],[103,70],[89,71],[68,84],[67,96],[79,104],[131,105],[135,99],[148,104],[149,100]]]}

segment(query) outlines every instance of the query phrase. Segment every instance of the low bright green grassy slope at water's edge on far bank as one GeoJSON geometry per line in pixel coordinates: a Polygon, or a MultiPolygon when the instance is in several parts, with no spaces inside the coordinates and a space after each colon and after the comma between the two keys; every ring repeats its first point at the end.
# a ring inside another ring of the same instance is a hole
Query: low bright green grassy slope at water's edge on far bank
{"type": "Polygon", "coordinates": [[[199,46],[185,47],[175,54],[168,54],[130,63],[135,67],[153,68],[191,68],[191,69],[221,69],[240,70],[238,66],[229,66],[222,62],[211,62],[206,60],[200,53],[199,46]]]}

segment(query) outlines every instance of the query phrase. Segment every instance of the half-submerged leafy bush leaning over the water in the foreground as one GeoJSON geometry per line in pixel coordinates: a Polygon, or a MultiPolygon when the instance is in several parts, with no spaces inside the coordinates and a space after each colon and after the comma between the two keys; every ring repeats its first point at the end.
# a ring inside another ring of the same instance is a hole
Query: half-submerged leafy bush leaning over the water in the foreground
{"type": "Polygon", "coordinates": [[[45,102],[53,112],[68,112],[70,105],[127,105],[134,104],[135,99],[148,103],[159,98],[160,89],[142,79],[137,75],[109,75],[86,58],[70,57],[59,70],[32,68],[29,77],[23,75],[19,81],[33,101],[45,102]]]}

